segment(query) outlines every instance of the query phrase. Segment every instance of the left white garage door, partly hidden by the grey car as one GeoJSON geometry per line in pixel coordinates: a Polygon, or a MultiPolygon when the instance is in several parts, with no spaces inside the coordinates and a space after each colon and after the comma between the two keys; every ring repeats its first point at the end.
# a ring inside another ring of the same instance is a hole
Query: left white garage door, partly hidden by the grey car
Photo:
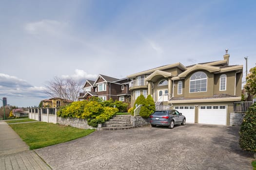
{"type": "Polygon", "coordinates": [[[195,106],[175,106],[174,108],[186,117],[187,123],[195,123],[195,106]]]}

